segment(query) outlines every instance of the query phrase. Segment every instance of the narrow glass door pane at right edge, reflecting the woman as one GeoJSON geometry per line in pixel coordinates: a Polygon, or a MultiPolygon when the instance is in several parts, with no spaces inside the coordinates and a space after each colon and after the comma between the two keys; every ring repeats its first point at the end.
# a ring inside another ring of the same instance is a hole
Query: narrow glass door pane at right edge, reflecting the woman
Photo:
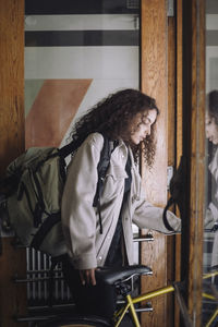
{"type": "Polygon", "coordinates": [[[203,325],[218,326],[218,2],[206,1],[206,215],[203,325]],[[207,278],[206,278],[207,277],[207,278]],[[214,317],[213,317],[214,316],[214,317]]]}

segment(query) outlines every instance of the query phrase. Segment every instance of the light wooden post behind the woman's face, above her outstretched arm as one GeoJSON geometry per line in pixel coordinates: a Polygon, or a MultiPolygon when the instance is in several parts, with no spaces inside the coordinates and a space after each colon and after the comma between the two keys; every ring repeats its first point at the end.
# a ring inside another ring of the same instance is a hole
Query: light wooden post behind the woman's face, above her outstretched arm
{"type": "Polygon", "coordinates": [[[149,199],[165,205],[167,198],[167,14],[166,1],[142,0],[142,90],[157,100],[157,155],[152,171],[144,167],[149,199]],[[161,190],[161,192],[160,192],[161,190]]]}

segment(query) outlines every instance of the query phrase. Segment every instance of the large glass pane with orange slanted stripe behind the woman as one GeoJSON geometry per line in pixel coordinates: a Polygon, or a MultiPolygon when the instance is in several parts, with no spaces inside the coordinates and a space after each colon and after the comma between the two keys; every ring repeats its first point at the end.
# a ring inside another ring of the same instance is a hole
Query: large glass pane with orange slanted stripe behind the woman
{"type": "MultiPolygon", "coordinates": [[[[138,3],[25,1],[26,148],[64,145],[75,119],[97,101],[118,89],[140,87],[138,3]]],[[[43,276],[49,267],[34,251],[27,252],[27,264],[28,272],[40,270],[43,276]]],[[[62,281],[56,281],[55,304],[69,296],[62,281]]],[[[28,284],[31,305],[47,299],[45,283],[28,284]]]]}

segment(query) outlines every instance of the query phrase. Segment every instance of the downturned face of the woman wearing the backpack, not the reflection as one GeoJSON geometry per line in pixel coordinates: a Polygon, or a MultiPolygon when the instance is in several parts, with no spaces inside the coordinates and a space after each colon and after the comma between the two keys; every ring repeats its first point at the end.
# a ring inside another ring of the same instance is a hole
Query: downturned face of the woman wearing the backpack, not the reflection
{"type": "Polygon", "coordinates": [[[150,135],[150,128],[155,123],[157,119],[156,109],[148,109],[144,112],[138,112],[133,121],[131,122],[130,131],[130,140],[133,144],[137,145],[143,140],[146,138],[147,135],[150,135]]]}

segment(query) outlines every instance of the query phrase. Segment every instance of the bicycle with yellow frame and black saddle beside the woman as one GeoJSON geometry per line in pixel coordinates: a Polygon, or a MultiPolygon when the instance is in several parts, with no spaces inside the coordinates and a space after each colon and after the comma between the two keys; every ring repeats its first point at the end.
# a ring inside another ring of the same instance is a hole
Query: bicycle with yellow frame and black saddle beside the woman
{"type": "MultiPolygon", "coordinates": [[[[178,293],[178,299],[179,299],[179,303],[180,303],[180,307],[181,311],[185,310],[183,306],[183,300],[182,296],[180,296],[180,291],[179,289],[181,289],[182,283],[181,282],[175,282],[173,284],[160,288],[158,290],[148,292],[148,293],[144,293],[144,294],[140,294],[137,296],[132,296],[131,295],[131,290],[130,287],[126,284],[126,281],[129,281],[130,279],[132,279],[134,276],[143,276],[143,275],[152,275],[153,271],[149,267],[144,266],[144,265],[133,265],[133,266],[129,266],[129,267],[122,267],[120,269],[112,269],[112,270],[108,270],[108,269],[102,269],[102,270],[98,270],[96,272],[96,277],[101,278],[101,280],[104,280],[104,282],[108,283],[108,284],[114,284],[116,289],[118,290],[118,293],[122,294],[125,298],[125,303],[121,305],[120,308],[118,308],[114,312],[113,315],[113,320],[108,322],[105,318],[101,317],[97,317],[97,316],[80,316],[80,315],[73,315],[71,317],[69,316],[57,316],[53,319],[51,319],[50,322],[45,322],[43,325],[37,325],[37,326],[46,326],[46,327],[119,327],[124,318],[124,316],[126,315],[126,313],[129,312],[131,317],[132,317],[132,322],[133,322],[133,326],[135,327],[141,327],[140,324],[140,319],[137,317],[136,314],[136,310],[135,310],[135,305],[138,303],[142,303],[143,301],[148,301],[150,299],[154,299],[158,295],[162,295],[162,294],[168,294],[171,292],[177,292],[178,293]]],[[[204,275],[204,279],[210,278],[213,276],[217,276],[218,275],[218,270],[215,270],[213,272],[206,274],[204,275]]],[[[216,295],[209,294],[209,293],[204,293],[203,292],[203,296],[210,299],[213,301],[217,301],[216,295]]],[[[186,313],[185,313],[186,314],[186,313]]],[[[209,320],[207,322],[205,327],[210,327],[213,322],[215,322],[215,319],[218,317],[218,310],[215,311],[215,313],[213,314],[213,316],[209,318],[209,320]]],[[[189,320],[189,318],[186,317],[185,319],[185,326],[191,327],[192,324],[189,320]]]]}

